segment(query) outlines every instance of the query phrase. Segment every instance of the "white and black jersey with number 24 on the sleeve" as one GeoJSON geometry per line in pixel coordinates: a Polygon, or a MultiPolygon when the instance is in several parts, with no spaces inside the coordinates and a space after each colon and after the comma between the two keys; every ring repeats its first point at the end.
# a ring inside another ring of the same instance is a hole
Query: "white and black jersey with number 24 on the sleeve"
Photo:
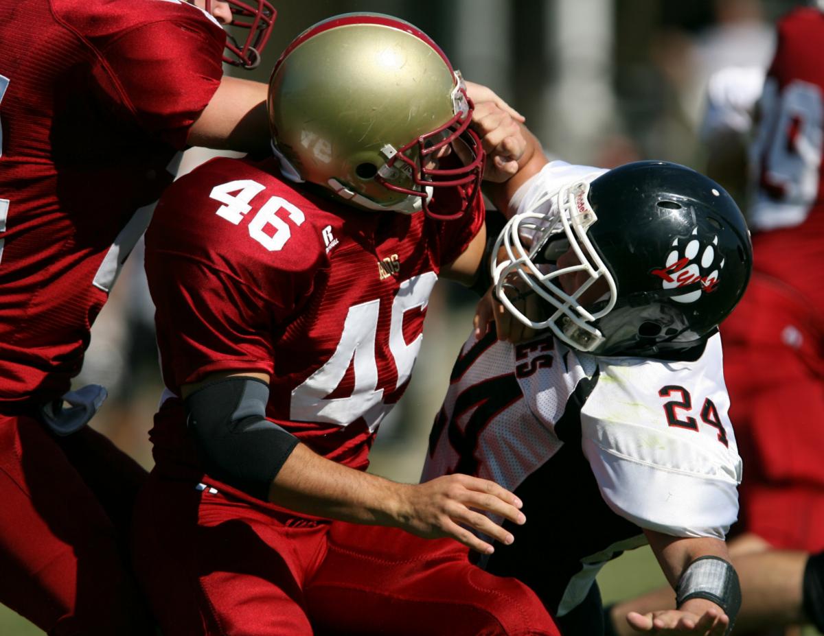
{"type": "Polygon", "coordinates": [[[489,571],[560,617],[602,564],[646,543],[642,528],[723,540],[742,466],[720,336],[682,358],[597,357],[551,336],[513,345],[494,330],[467,340],[422,479],[466,473],[522,498],[527,524],[489,571]]]}

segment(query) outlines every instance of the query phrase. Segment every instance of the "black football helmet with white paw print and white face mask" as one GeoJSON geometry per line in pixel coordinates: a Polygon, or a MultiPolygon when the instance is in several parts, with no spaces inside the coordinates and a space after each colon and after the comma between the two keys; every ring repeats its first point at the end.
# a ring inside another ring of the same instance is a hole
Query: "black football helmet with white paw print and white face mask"
{"type": "Polygon", "coordinates": [[[729,194],[663,161],[637,161],[547,193],[508,222],[494,255],[500,246],[508,258],[493,260],[492,276],[508,310],[599,355],[648,356],[700,344],[741,300],[752,269],[749,231],[729,194]],[[550,200],[548,213],[536,211],[550,200]],[[570,247],[580,264],[558,269],[570,247]],[[575,271],[589,278],[567,294],[555,279],[575,271]],[[504,293],[513,273],[529,285],[527,294],[549,303],[547,320],[530,320],[504,293]],[[578,297],[599,279],[608,291],[581,306],[578,297]]]}

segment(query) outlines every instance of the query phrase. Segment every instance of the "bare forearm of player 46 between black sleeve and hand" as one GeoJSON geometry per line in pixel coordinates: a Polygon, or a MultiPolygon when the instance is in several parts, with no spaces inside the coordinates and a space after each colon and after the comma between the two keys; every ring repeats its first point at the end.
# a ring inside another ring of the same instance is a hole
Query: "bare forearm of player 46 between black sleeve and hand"
{"type": "Polygon", "coordinates": [[[269,487],[269,501],[294,512],[372,526],[397,526],[404,489],[298,444],[269,487]]]}

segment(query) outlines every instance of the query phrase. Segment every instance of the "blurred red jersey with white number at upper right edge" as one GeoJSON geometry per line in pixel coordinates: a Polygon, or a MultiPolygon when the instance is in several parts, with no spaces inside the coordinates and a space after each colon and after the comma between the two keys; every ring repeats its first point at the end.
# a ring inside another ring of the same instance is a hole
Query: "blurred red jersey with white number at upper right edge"
{"type": "Polygon", "coordinates": [[[778,25],[753,144],[754,230],[796,227],[824,209],[824,13],[801,7],[778,25]]]}

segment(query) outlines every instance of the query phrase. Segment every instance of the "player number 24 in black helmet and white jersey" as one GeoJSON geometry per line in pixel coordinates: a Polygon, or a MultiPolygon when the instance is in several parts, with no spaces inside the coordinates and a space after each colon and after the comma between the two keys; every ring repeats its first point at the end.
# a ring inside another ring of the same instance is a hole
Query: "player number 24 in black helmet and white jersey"
{"type": "Polygon", "coordinates": [[[423,480],[466,473],[522,498],[530,523],[479,564],[532,587],[565,636],[602,634],[596,574],[646,543],[678,609],[630,614],[634,629],[721,636],[741,602],[724,538],[742,465],[717,325],[747,287],[747,227],[685,167],[533,150],[494,186],[511,218],[423,480]]]}

